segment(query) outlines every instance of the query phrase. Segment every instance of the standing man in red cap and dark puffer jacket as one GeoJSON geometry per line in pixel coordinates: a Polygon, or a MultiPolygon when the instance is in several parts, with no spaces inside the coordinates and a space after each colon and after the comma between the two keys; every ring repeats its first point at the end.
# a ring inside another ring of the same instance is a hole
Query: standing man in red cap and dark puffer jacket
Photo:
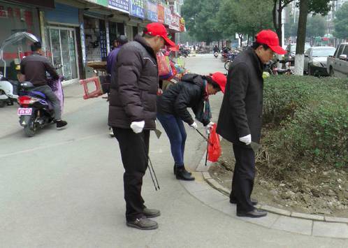
{"type": "Polygon", "coordinates": [[[160,215],[144,205],[141,196],[147,169],[150,130],[156,128],[156,96],[159,82],[156,53],[173,46],[164,25],[148,24],[143,37],[122,46],[111,68],[108,124],[119,143],[124,166],[126,224],[142,230],[158,227],[160,215]]]}

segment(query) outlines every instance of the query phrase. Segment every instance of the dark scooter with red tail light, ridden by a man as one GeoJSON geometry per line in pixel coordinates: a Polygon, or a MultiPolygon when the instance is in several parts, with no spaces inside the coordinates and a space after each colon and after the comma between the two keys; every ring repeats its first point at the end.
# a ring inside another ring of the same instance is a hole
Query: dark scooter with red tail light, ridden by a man
{"type": "MultiPolygon", "coordinates": [[[[59,77],[58,80],[52,80],[52,78],[48,80],[48,85],[61,102],[61,110],[64,106],[62,80],[64,77],[59,77]]],[[[22,82],[20,87],[23,92],[20,92],[18,97],[20,108],[17,110],[17,115],[20,117],[20,125],[24,127],[24,133],[28,137],[32,137],[38,129],[43,129],[44,126],[53,123],[55,112],[45,94],[32,90],[34,85],[31,82],[22,82]]]]}

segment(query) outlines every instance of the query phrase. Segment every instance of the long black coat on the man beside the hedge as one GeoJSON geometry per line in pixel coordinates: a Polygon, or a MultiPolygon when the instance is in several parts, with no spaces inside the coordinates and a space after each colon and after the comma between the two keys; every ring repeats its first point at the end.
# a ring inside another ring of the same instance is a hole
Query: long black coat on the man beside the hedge
{"type": "Polygon", "coordinates": [[[236,145],[252,135],[259,143],[262,125],[263,64],[252,48],[240,53],[227,76],[226,91],[217,122],[217,133],[236,145]]]}

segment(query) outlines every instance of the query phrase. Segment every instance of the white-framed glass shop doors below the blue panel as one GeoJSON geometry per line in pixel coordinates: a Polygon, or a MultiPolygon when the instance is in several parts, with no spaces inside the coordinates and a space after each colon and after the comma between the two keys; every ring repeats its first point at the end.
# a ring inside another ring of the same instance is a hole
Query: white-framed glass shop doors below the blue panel
{"type": "Polygon", "coordinates": [[[52,64],[62,67],[57,71],[66,80],[78,78],[75,29],[64,27],[48,28],[49,53],[52,64]]]}

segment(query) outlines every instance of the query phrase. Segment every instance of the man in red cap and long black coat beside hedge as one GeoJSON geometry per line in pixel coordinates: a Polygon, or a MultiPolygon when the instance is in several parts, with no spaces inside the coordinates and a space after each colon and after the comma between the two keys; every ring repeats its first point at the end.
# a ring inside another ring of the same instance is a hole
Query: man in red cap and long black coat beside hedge
{"type": "Polygon", "coordinates": [[[235,58],[227,76],[226,92],[217,122],[217,133],[233,143],[235,170],[230,202],[237,204],[241,217],[264,217],[252,200],[255,178],[255,154],[252,147],[260,142],[263,102],[263,66],[273,55],[285,54],[277,34],[263,30],[256,35],[252,48],[235,58]]]}

